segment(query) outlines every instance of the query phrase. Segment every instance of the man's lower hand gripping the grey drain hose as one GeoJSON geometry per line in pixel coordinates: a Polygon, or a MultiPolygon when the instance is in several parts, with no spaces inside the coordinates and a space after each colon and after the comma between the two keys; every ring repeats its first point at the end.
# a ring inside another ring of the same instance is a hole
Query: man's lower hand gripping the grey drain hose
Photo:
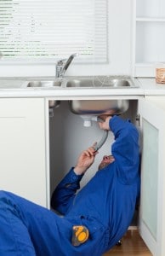
{"type": "Polygon", "coordinates": [[[88,148],[87,150],[84,150],[77,160],[77,165],[74,168],[74,172],[77,175],[85,173],[88,168],[94,163],[94,158],[96,154],[98,154],[98,151],[94,150],[94,146],[88,148]]]}

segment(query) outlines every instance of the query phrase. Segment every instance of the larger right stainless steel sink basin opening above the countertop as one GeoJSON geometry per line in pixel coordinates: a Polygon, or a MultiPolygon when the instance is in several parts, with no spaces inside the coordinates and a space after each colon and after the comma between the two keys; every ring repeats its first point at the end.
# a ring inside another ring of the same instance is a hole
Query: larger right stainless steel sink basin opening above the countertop
{"type": "Polygon", "coordinates": [[[133,79],[124,76],[98,76],[98,77],[81,77],[76,79],[68,79],[65,86],[67,88],[135,88],[133,79]]]}

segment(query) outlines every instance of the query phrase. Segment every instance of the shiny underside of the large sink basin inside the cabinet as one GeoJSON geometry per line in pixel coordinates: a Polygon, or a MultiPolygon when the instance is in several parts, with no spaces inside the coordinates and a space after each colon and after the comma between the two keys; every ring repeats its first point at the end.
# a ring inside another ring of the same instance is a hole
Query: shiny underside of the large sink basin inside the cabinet
{"type": "Polygon", "coordinates": [[[73,100],[69,101],[72,113],[85,115],[120,114],[128,110],[128,100],[73,100]]]}

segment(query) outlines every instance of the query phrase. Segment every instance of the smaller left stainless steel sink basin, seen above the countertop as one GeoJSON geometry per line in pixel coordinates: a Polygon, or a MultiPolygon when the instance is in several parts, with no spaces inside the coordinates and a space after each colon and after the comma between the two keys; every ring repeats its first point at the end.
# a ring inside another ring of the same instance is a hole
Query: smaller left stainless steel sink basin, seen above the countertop
{"type": "Polygon", "coordinates": [[[54,88],[54,87],[59,87],[61,85],[61,81],[56,81],[56,80],[52,80],[52,81],[45,81],[45,80],[39,80],[39,81],[30,81],[27,84],[27,88],[28,87],[39,87],[39,88],[54,88]]]}

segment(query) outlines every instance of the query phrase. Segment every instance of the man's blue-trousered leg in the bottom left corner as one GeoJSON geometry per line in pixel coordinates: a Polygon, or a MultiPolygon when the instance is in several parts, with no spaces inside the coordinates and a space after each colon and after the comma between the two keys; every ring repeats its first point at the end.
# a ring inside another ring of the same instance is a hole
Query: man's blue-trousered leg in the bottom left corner
{"type": "Polygon", "coordinates": [[[16,206],[0,201],[0,255],[36,255],[26,225],[23,224],[16,206]]]}

